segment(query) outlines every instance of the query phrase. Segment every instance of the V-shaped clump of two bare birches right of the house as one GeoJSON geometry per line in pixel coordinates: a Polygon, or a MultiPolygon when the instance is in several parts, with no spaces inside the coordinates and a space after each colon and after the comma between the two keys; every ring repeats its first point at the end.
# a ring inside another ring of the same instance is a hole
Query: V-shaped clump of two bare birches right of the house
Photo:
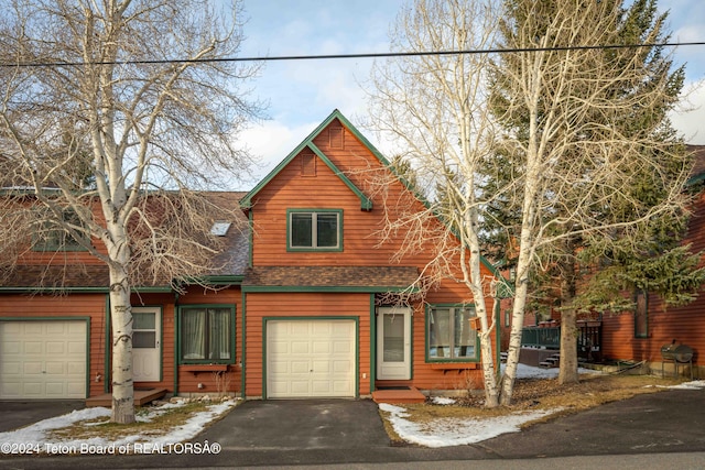
{"type": "MultiPolygon", "coordinates": [[[[451,265],[458,252],[440,242],[433,267],[445,275],[463,273],[485,320],[488,291],[477,275],[479,255],[496,252],[478,237],[503,231],[503,250],[514,252],[509,354],[499,390],[485,349],[494,326],[481,327],[488,406],[511,403],[529,275],[542,262],[555,262],[542,255],[560,244],[575,255],[587,239],[638,245],[650,220],[682,216],[690,170],[668,124],[649,119],[673,106],[679,74],[660,74],[644,63],[644,54],[660,51],[604,48],[625,44],[621,1],[508,0],[501,11],[497,4],[419,0],[404,10],[393,31],[394,48],[433,54],[378,66],[370,106],[372,124],[405,144],[417,181],[427,182],[424,193],[434,201],[429,212],[440,215],[470,253],[451,265]],[[501,35],[494,42],[497,28],[501,35]],[[484,48],[506,51],[489,68],[487,55],[442,53],[484,48]],[[649,204],[634,193],[644,175],[659,188],[649,204]],[[496,205],[518,217],[517,225],[502,226],[490,210],[496,205]]],[[[644,31],[629,41],[660,37],[659,29],[644,31]]],[[[423,226],[410,220],[397,226],[406,231],[406,250],[419,247],[422,237],[414,230],[423,226]]],[[[565,324],[564,342],[573,345],[575,321],[565,324]]],[[[564,370],[577,372],[576,361],[564,370]]]]}

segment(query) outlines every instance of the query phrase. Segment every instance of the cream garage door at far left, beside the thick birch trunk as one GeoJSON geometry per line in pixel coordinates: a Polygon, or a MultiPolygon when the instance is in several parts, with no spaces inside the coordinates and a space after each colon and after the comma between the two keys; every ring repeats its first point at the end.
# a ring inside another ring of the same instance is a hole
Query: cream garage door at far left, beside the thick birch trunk
{"type": "Polygon", "coordinates": [[[86,321],[0,321],[0,398],[86,397],[86,321]]]}

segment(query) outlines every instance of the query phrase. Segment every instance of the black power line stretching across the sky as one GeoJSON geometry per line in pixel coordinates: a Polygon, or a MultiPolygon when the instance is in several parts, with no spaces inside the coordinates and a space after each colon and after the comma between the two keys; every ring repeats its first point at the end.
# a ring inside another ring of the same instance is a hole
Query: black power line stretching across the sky
{"type": "Polygon", "coordinates": [[[460,51],[417,51],[417,52],[382,52],[360,54],[314,54],[314,55],[278,55],[260,57],[214,57],[214,58],[165,58],[165,59],[134,59],[110,62],[20,62],[14,64],[1,64],[0,67],[80,67],[85,65],[150,65],[150,64],[202,64],[218,62],[276,62],[276,61],[328,61],[346,58],[386,58],[386,57],[416,57],[425,55],[465,55],[465,54],[508,54],[531,52],[558,52],[558,51],[590,51],[590,50],[620,50],[642,47],[679,47],[702,46],[705,42],[686,43],[642,43],[642,44],[608,44],[593,46],[553,46],[553,47],[527,47],[527,48],[487,48],[487,50],[460,50],[460,51]]]}

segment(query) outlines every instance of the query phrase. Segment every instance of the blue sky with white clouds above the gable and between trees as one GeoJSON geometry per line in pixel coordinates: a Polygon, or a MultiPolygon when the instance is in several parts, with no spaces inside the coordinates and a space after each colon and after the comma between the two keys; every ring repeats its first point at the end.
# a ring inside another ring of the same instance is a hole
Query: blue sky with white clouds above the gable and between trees
{"type": "MultiPolygon", "coordinates": [[[[242,57],[389,52],[389,31],[402,0],[243,0],[247,23],[242,57]]],[[[705,41],[705,1],[659,0],[670,10],[672,42],[705,41]]],[[[705,46],[675,50],[686,64],[690,107],[672,116],[686,142],[705,144],[705,46]]],[[[367,114],[364,84],[371,58],[275,61],[264,64],[251,85],[253,97],[269,103],[268,120],[240,136],[259,162],[250,189],[301,143],[334,109],[359,125],[367,114]]],[[[366,136],[383,154],[390,150],[366,136]]],[[[247,187],[247,185],[250,185],[247,187]]]]}

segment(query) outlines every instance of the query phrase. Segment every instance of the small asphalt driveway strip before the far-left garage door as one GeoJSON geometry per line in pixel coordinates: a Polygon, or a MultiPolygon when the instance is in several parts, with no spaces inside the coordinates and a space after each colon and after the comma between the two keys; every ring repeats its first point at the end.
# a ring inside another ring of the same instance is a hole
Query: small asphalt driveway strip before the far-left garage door
{"type": "Polygon", "coordinates": [[[0,433],[83,409],[86,403],[73,400],[53,402],[0,402],[0,433]]]}

